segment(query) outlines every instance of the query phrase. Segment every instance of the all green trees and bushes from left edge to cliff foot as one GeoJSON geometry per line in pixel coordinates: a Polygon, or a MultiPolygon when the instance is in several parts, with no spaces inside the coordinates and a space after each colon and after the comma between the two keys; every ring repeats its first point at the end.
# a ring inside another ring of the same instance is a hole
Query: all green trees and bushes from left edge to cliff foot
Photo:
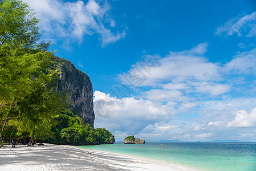
{"type": "Polygon", "coordinates": [[[0,144],[30,137],[56,144],[114,142],[67,109],[66,92],[55,91],[60,71],[51,66],[50,42],[40,41],[39,20],[19,0],[0,1],[0,144]]]}

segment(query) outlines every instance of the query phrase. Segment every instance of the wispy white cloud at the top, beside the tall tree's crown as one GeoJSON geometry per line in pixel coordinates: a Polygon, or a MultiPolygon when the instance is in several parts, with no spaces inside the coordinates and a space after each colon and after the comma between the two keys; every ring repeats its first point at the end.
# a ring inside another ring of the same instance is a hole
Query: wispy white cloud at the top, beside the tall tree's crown
{"type": "Polygon", "coordinates": [[[110,17],[107,1],[90,0],[63,2],[60,0],[23,0],[34,9],[40,19],[41,31],[48,40],[82,43],[85,36],[99,35],[102,46],[125,37],[127,28],[113,30],[115,21],[110,17]]]}

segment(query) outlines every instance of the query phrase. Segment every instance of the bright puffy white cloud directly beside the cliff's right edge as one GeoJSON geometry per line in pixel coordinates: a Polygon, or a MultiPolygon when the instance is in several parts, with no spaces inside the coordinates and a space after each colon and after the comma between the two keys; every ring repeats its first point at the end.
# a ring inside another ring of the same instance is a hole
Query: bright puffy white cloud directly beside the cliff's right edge
{"type": "MultiPolygon", "coordinates": [[[[121,101],[103,92],[94,92],[94,103],[99,100],[112,100],[115,104],[115,113],[105,119],[96,115],[95,123],[113,131],[109,124],[120,125],[119,131],[135,132],[143,129],[148,123],[155,123],[166,116],[168,108],[149,100],[134,99],[133,97],[123,98],[121,101]]],[[[97,113],[95,111],[95,113],[97,113]]]]}

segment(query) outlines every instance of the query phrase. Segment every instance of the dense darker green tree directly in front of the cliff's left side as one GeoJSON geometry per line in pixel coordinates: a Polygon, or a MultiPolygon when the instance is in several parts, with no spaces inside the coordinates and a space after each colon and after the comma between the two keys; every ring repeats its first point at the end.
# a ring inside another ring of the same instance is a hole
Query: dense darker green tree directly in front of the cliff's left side
{"type": "Polygon", "coordinates": [[[32,91],[18,102],[21,112],[19,131],[29,132],[30,137],[47,139],[53,135],[51,127],[57,124],[55,117],[67,107],[67,95],[56,92],[58,72],[42,74],[32,82],[32,91]]]}

